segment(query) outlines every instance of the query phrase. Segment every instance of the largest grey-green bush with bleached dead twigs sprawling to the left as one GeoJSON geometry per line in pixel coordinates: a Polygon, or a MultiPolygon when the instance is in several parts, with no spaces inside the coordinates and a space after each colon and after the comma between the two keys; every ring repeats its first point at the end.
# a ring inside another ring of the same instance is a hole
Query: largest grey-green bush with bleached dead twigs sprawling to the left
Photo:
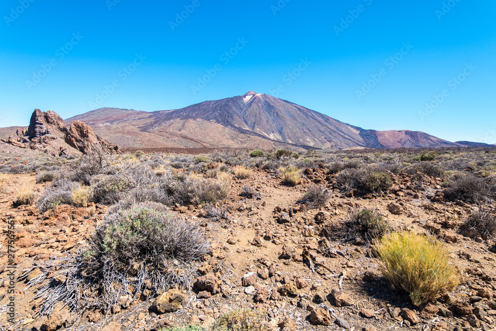
{"type": "Polygon", "coordinates": [[[110,313],[122,296],[136,297],[145,289],[189,289],[197,261],[210,250],[196,224],[168,215],[158,203],[107,214],[88,244],[76,255],[49,261],[28,282],[39,286],[37,296],[43,298],[39,315],[50,314],[57,302],[79,316],[95,308],[110,313]]]}

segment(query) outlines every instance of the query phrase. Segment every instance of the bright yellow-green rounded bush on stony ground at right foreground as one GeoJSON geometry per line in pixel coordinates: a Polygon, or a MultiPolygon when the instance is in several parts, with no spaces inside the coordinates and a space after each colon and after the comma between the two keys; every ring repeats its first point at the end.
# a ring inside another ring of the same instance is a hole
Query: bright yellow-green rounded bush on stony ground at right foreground
{"type": "Polygon", "coordinates": [[[420,306],[453,290],[458,274],[449,257],[433,237],[413,232],[395,232],[376,240],[374,250],[384,276],[410,294],[420,306]]]}

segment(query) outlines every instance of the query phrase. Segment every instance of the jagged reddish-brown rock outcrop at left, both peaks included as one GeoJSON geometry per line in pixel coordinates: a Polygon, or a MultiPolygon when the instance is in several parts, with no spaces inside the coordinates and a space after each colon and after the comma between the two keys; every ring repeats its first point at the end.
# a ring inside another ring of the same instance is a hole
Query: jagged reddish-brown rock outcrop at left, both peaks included
{"type": "Polygon", "coordinates": [[[56,112],[42,112],[35,109],[27,130],[17,129],[5,142],[34,150],[41,150],[54,156],[87,154],[97,148],[104,152],[119,153],[119,146],[95,134],[88,125],[74,121],[69,129],[56,112]]]}

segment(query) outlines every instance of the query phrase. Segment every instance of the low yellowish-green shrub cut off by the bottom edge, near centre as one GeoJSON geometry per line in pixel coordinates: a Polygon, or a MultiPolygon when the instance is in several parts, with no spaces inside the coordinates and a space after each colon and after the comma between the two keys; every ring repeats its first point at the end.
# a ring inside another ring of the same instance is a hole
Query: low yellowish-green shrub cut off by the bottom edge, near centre
{"type": "Polygon", "coordinates": [[[211,331],[265,331],[264,313],[260,310],[235,309],[219,316],[211,331]]]}

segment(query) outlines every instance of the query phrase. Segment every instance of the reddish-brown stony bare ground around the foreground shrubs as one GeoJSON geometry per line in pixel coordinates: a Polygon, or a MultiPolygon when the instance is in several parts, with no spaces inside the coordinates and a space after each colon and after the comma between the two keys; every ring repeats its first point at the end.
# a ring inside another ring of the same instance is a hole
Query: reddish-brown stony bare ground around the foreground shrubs
{"type": "Polygon", "coordinates": [[[7,175],[0,194],[0,325],[2,330],[160,330],[177,324],[208,326],[233,308],[261,309],[270,330],[496,330],[496,257],[494,242],[460,225],[475,205],[442,198],[442,179],[393,175],[391,193],[382,197],[341,193],[335,176],[308,169],[296,187],[256,170],[233,181],[231,199],[219,207],[229,219],[203,217],[201,206],[176,206],[172,213],[201,224],[212,249],[198,265],[189,289],[171,289],[156,298],[123,297],[120,311],[104,316],[86,312],[76,319],[56,307],[48,317],[37,316],[41,299],[26,288],[47,262],[74,254],[86,244],[102,221],[106,207],[61,205],[45,213],[34,206],[14,207],[16,188],[35,184],[33,175],[7,175]],[[326,186],[332,198],[313,208],[302,198],[310,183],[326,186]],[[259,193],[239,196],[244,185],[259,193]],[[328,239],[358,208],[373,208],[397,229],[429,231],[444,241],[451,262],[460,272],[460,285],[423,307],[391,287],[382,276],[370,247],[360,241],[343,244],[328,239]],[[14,224],[15,324],[7,322],[9,297],[7,227],[14,224]],[[312,270],[313,269],[313,270],[312,270]]]}

